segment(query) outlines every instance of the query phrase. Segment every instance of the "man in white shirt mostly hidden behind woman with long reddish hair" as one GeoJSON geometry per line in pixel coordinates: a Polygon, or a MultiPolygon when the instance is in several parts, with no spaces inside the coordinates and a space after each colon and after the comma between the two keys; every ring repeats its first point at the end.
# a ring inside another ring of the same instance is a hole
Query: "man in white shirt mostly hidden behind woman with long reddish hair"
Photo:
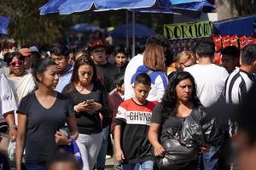
{"type": "MultiPolygon", "coordinates": [[[[149,44],[157,44],[162,45],[163,47],[168,47],[166,38],[159,34],[148,37],[145,47],[147,47],[149,44]]],[[[143,54],[137,54],[130,60],[125,69],[125,100],[131,99],[134,96],[131,77],[136,73],[137,68],[141,65],[143,65],[143,54]]]]}

